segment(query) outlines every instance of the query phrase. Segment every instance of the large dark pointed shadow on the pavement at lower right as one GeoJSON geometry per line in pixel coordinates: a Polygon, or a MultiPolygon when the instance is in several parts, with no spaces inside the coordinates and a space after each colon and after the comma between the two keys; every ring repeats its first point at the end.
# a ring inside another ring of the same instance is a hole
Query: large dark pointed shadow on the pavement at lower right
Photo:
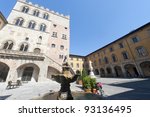
{"type": "Polygon", "coordinates": [[[150,100],[150,79],[128,83],[110,84],[111,86],[130,88],[133,90],[108,96],[110,100],[150,100]]]}

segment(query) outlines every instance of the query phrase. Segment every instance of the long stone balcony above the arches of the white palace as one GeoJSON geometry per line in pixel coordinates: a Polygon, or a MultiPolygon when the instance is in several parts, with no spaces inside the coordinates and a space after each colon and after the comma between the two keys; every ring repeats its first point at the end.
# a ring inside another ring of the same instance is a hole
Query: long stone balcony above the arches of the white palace
{"type": "Polygon", "coordinates": [[[21,60],[36,60],[44,61],[45,57],[42,53],[22,52],[17,50],[0,50],[1,59],[21,59],[21,60]]]}

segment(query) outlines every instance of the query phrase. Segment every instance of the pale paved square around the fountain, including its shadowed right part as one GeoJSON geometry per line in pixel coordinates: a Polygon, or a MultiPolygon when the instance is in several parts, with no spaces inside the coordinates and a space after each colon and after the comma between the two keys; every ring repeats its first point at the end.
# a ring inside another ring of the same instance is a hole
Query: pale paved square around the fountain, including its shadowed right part
{"type": "MultiPolygon", "coordinates": [[[[103,90],[108,100],[149,100],[150,79],[117,79],[98,78],[97,82],[103,83],[103,90]]],[[[50,90],[59,91],[60,84],[48,80],[46,82],[29,82],[14,89],[6,90],[7,83],[0,85],[0,100],[29,100],[42,96],[50,90]]],[[[72,91],[83,91],[82,86],[71,84],[72,91]]]]}

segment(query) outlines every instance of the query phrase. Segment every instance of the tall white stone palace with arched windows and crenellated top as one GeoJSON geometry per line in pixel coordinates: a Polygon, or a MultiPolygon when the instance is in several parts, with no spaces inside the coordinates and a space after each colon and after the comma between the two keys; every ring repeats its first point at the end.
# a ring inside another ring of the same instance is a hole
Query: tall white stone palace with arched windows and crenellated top
{"type": "Polygon", "coordinates": [[[0,31],[0,82],[45,81],[69,58],[70,18],[17,0],[0,31]]]}

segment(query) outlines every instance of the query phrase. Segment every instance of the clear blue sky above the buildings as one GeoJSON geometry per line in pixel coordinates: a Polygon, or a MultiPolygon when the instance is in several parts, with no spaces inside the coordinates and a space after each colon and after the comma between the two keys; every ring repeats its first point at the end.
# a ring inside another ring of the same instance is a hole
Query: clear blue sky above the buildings
{"type": "MultiPolygon", "coordinates": [[[[29,0],[71,17],[71,54],[87,55],[150,21],[150,0],[29,0]]],[[[16,0],[3,0],[7,17],[16,0]]]]}

